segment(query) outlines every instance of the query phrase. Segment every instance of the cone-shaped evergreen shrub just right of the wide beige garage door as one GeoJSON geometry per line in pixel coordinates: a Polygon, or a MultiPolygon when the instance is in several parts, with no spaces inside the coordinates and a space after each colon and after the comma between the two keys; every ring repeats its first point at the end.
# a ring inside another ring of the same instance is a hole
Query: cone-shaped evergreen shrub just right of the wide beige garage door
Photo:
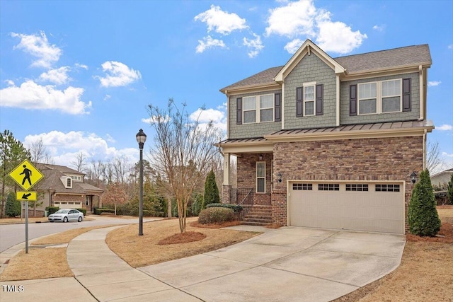
{"type": "Polygon", "coordinates": [[[432,192],[430,173],[424,170],[412,191],[408,208],[409,231],[418,236],[435,236],[440,231],[440,219],[432,192]]]}

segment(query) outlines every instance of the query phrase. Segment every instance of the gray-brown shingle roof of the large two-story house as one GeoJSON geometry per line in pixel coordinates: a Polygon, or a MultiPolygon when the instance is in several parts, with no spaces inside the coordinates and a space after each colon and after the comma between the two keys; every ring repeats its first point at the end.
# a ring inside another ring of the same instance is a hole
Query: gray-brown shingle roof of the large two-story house
{"type": "MultiPolygon", "coordinates": [[[[334,60],[343,66],[348,73],[432,63],[428,44],[367,52],[365,54],[353,54],[345,57],[337,57],[334,60]]],[[[224,92],[231,88],[275,83],[274,78],[283,67],[284,66],[277,66],[265,69],[264,71],[258,72],[258,74],[254,74],[253,76],[249,76],[246,79],[226,86],[220,89],[220,91],[224,92]]]]}

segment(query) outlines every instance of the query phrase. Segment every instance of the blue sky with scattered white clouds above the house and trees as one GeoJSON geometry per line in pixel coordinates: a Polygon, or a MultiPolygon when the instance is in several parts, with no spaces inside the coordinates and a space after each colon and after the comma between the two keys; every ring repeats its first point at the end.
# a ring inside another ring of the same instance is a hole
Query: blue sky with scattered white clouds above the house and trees
{"type": "MultiPolygon", "coordinates": [[[[0,129],[42,139],[54,162],[82,151],[138,160],[147,105],[205,105],[284,65],[307,38],[331,57],[428,43],[428,136],[453,166],[453,1],[0,1],[0,129]]],[[[145,147],[146,147],[145,145],[145,147]]]]}

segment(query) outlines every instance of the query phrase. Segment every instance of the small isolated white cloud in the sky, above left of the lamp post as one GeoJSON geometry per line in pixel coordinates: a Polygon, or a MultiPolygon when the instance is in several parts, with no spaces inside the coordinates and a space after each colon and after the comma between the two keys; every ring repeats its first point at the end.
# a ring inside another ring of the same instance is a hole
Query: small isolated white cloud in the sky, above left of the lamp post
{"type": "Polygon", "coordinates": [[[101,66],[107,74],[104,78],[101,76],[97,77],[103,87],[126,86],[138,79],[142,79],[140,71],[129,68],[121,62],[108,61],[104,62],[101,66]]]}

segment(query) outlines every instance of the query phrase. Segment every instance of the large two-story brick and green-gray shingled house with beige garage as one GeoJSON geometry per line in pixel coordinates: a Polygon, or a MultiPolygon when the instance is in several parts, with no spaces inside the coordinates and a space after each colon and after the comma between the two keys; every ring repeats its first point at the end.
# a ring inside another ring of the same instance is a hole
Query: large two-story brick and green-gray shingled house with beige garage
{"type": "Polygon", "coordinates": [[[333,59],[306,40],[285,66],[222,88],[222,201],[251,197],[251,213],[280,225],[405,233],[411,173],[434,129],[431,64],[428,45],[333,59]]]}

